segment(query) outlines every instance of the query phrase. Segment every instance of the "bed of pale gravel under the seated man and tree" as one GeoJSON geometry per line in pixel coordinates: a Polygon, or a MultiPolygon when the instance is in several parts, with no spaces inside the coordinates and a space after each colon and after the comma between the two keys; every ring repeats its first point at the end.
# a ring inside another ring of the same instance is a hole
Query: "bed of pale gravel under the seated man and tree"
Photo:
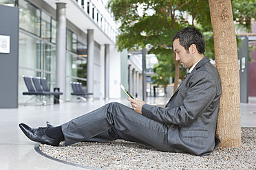
{"type": "Polygon", "coordinates": [[[209,156],[163,152],[122,140],[77,143],[59,147],[39,145],[52,158],[98,169],[256,169],[256,128],[242,127],[242,147],[220,149],[209,156]]]}

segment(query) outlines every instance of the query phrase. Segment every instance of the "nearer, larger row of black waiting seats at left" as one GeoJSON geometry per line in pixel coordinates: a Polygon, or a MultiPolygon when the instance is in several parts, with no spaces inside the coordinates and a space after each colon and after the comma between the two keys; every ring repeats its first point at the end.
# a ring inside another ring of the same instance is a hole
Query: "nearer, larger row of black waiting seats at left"
{"type": "MultiPolygon", "coordinates": [[[[43,105],[47,104],[47,101],[43,100],[43,96],[48,97],[50,100],[50,97],[53,95],[54,99],[56,99],[56,96],[63,95],[61,92],[50,92],[50,88],[47,86],[47,82],[45,78],[41,77],[25,77],[23,76],[25,85],[28,88],[28,92],[23,92],[23,95],[33,95],[31,99],[28,101],[34,99],[35,97],[43,102],[43,105]],[[33,86],[33,84],[34,86],[33,86]],[[43,86],[43,88],[42,88],[43,86]]],[[[28,104],[28,101],[25,102],[25,104],[28,104]]],[[[58,101],[61,101],[58,99],[58,101]]]]}

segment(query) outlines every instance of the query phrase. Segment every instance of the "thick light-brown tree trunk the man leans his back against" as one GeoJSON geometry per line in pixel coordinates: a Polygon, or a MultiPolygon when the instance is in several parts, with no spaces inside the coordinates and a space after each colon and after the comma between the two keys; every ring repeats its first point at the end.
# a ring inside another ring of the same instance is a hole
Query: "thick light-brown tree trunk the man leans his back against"
{"type": "Polygon", "coordinates": [[[209,0],[217,71],[222,84],[217,136],[220,147],[241,147],[241,114],[237,41],[231,0],[209,0]]]}

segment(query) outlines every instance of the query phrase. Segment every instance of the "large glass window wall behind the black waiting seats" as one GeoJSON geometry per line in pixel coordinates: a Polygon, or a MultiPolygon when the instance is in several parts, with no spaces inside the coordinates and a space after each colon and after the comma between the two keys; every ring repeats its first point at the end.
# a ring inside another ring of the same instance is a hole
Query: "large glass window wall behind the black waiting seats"
{"type": "MultiPolygon", "coordinates": [[[[2,1],[12,3],[15,1],[2,1]]],[[[23,75],[46,77],[51,90],[56,86],[56,21],[52,16],[36,8],[32,3],[19,0],[19,103],[30,97],[23,75]]],[[[66,40],[66,99],[72,99],[70,82],[82,82],[87,86],[87,45],[82,37],[67,29],[66,40]]]]}

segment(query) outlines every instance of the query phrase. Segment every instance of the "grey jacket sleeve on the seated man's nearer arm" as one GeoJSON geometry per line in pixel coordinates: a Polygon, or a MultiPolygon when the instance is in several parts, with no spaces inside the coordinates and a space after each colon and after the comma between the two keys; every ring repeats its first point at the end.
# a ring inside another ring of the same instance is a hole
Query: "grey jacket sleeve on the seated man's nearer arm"
{"type": "Polygon", "coordinates": [[[187,83],[178,91],[184,95],[180,106],[161,108],[145,104],[142,115],[162,123],[188,125],[209,107],[216,95],[215,81],[206,71],[188,77],[187,83]]]}

